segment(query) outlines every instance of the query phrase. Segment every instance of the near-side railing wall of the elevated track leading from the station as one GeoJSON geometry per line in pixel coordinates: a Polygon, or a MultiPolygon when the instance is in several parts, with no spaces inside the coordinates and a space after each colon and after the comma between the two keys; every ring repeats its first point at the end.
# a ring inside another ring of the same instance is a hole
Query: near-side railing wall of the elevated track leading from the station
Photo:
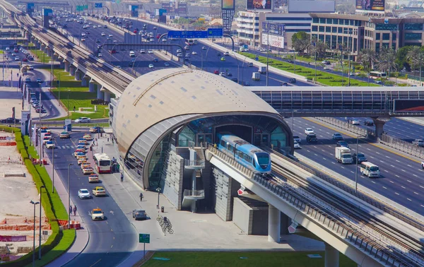
{"type": "MultiPolygon", "coordinates": [[[[326,213],[324,210],[321,210],[319,207],[315,206],[314,203],[310,203],[309,201],[307,201],[307,198],[301,196],[300,194],[297,194],[295,190],[290,190],[289,188],[278,184],[273,179],[269,179],[269,177],[266,177],[263,174],[255,174],[251,170],[247,172],[245,170],[247,169],[246,167],[238,164],[234,160],[234,158],[223,153],[217,148],[209,146],[208,150],[214,155],[216,155],[218,158],[225,160],[225,162],[228,162],[228,164],[232,165],[233,167],[236,167],[237,170],[240,170],[240,172],[246,174],[248,178],[254,180],[254,182],[257,182],[257,184],[260,184],[276,196],[279,196],[283,201],[290,204],[290,206],[294,206],[302,213],[307,214],[307,216],[311,220],[321,225],[324,225],[324,227],[326,227],[328,230],[334,232],[336,235],[346,240],[347,242],[350,242],[351,244],[353,244],[353,246],[357,247],[361,251],[364,251],[365,253],[374,257],[375,259],[377,259],[377,261],[384,262],[389,266],[408,266],[403,261],[399,261],[399,259],[397,259],[396,256],[394,256],[393,254],[387,252],[386,247],[377,244],[374,240],[367,237],[369,233],[367,233],[366,231],[365,233],[363,233],[362,231],[359,232],[358,230],[353,229],[352,227],[343,223],[338,218],[334,218],[329,213],[326,213]]],[[[345,219],[346,218],[342,218],[342,220],[346,221],[345,219]]],[[[348,219],[352,223],[358,223],[358,221],[353,218],[348,219]]]]}

